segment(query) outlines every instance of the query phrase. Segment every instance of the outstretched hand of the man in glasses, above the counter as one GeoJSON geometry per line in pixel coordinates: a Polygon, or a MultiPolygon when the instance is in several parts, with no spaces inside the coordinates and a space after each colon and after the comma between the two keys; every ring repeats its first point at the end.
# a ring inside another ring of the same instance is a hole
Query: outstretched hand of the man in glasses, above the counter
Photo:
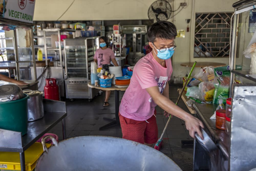
{"type": "Polygon", "coordinates": [[[200,127],[204,128],[204,124],[197,119],[196,117],[193,116],[189,116],[186,120],[185,120],[185,125],[186,125],[186,129],[189,131],[189,135],[192,138],[195,138],[195,133],[197,132],[198,135],[201,137],[201,139],[203,140],[204,137],[200,131],[200,127]]]}

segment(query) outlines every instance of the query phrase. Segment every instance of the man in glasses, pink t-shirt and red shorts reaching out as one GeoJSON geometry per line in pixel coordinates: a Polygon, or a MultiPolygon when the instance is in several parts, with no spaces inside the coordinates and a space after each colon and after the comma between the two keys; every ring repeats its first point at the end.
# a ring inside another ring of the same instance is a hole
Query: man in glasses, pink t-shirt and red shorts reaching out
{"type": "Polygon", "coordinates": [[[123,138],[153,146],[158,138],[156,105],[168,116],[172,114],[183,119],[191,137],[194,138],[197,132],[202,138],[202,122],[169,99],[168,81],[173,71],[170,58],[177,36],[175,25],[167,21],[154,23],[147,36],[152,52],[136,63],[119,108],[123,138]]]}

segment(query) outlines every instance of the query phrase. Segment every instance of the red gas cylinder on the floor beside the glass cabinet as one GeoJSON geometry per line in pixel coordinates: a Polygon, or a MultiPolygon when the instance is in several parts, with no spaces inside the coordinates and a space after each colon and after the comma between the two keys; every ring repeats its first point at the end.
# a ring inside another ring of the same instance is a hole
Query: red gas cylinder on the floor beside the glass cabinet
{"type": "Polygon", "coordinates": [[[45,81],[45,99],[60,100],[59,87],[56,84],[56,78],[47,78],[45,81]]]}

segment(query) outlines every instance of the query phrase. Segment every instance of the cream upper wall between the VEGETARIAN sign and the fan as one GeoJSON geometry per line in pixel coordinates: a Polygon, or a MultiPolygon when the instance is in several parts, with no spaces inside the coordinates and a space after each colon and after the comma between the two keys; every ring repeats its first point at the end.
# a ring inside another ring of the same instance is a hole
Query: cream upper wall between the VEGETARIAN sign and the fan
{"type": "MultiPolygon", "coordinates": [[[[155,0],[75,0],[59,20],[148,19],[148,7],[155,0]]],[[[73,0],[36,0],[34,20],[57,20],[73,0]]]]}

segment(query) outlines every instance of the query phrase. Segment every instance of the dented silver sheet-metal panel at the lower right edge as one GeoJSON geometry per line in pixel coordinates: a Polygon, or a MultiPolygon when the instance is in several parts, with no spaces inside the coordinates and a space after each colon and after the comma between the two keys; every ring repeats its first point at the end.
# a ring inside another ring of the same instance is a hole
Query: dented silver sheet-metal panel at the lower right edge
{"type": "Polygon", "coordinates": [[[256,84],[234,86],[232,99],[230,170],[256,167],[256,84]]]}

